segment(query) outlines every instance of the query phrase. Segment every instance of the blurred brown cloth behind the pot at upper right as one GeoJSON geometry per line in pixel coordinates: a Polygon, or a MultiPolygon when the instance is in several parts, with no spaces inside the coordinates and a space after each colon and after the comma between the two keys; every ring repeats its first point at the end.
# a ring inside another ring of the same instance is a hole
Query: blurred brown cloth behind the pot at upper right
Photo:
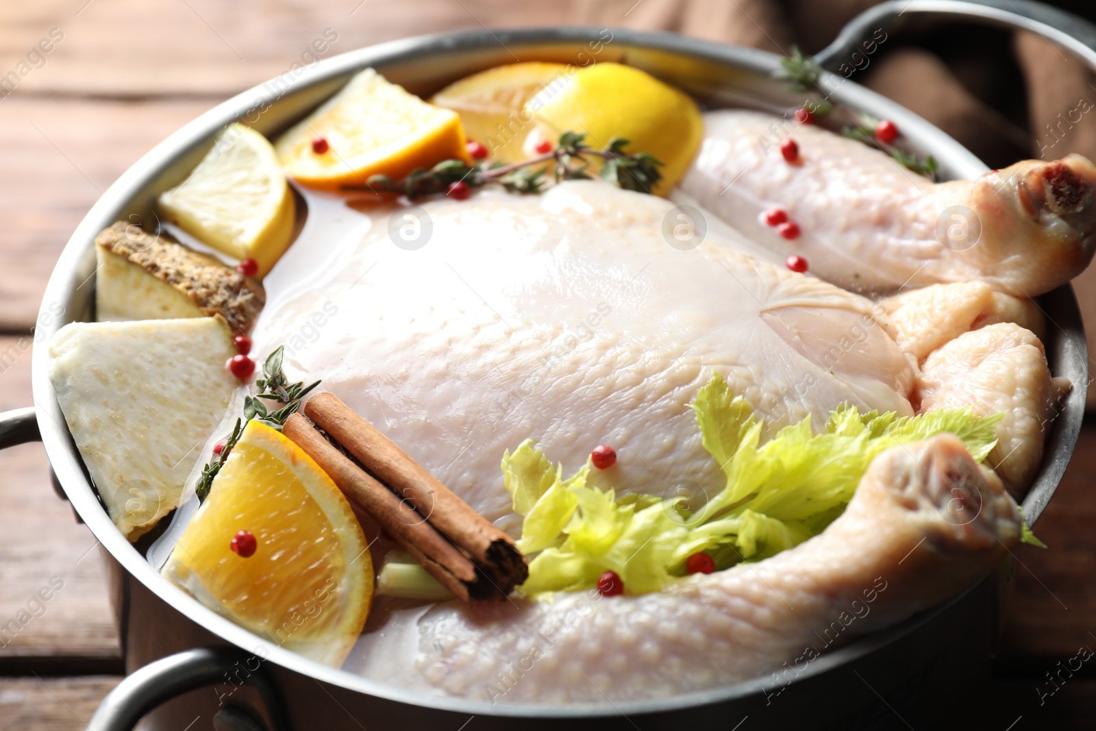
{"type": "MultiPolygon", "coordinates": [[[[818,53],[871,0],[573,0],[579,22],[818,53]]],[[[1096,20],[1096,3],[1050,2],[1096,20]]],[[[1026,31],[949,23],[892,33],[855,81],[912,110],[991,168],[1080,152],[1096,161],[1096,75],[1026,31]]],[[[1096,266],[1075,281],[1096,356],[1096,266]]],[[[1096,407],[1096,389],[1089,391],[1096,407]]]]}

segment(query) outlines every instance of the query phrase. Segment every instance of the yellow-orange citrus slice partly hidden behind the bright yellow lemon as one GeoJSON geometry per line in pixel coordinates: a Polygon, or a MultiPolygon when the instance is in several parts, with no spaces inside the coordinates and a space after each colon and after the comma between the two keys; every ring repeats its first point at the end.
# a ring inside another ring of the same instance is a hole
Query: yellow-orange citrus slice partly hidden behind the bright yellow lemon
{"type": "Polygon", "coordinates": [[[544,89],[561,89],[572,75],[566,64],[506,64],[455,81],[430,101],[458,113],[468,139],[487,147],[492,159],[517,162],[526,157],[522,144],[533,129],[525,104],[544,89]]]}

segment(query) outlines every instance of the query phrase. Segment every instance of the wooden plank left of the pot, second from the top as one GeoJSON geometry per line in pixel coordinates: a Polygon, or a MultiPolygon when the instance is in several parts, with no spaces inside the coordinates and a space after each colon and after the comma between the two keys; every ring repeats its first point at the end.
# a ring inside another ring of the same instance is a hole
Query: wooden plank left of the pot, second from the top
{"type": "Polygon", "coordinates": [[[214,105],[203,100],[0,100],[0,331],[34,322],[72,230],[126,168],[214,105]]]}

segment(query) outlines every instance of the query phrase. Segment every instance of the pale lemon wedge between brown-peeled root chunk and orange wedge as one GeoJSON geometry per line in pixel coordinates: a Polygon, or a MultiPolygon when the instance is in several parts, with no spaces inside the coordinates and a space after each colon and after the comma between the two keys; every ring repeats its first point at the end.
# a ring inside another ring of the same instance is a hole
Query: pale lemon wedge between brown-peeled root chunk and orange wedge
{"type": "Polygon", "coordinates": [[[274,148],[251,127],[229,125],[198,167],[160,195],[173,224],[236,259],[270,272],[293,236],[296,202],[274,148]]]}

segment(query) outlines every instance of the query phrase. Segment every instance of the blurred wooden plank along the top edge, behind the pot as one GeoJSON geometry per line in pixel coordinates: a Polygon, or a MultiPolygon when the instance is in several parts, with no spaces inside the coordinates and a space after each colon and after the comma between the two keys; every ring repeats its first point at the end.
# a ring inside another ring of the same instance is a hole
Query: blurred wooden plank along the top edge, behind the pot
{"type": "MultiPolygon", "coordinates": [[[[573,3],[420,0],[404,3],[332,0],[42,0],[0,5],[0,73],[20,68],[31,48],[64,34],[16,94],[228,96],[307,62],[318,38],[334,38],[323,56],[384,41],[442,31],[575,24],[573,3]]],[[[583,4],[583,3],[579,3],[583,4]]],[[[589,3],[584,3],[589,5],[589,3]]],[[[620,11],[620,25],[625,8],[620,11]]],[[[590,11],[592,12],[592,11],[590,11]]],[[[48,44],[47,44],[48,45],[48,44]]],[[[321,44],[322,47],[323,44],[321,44]]]]}

